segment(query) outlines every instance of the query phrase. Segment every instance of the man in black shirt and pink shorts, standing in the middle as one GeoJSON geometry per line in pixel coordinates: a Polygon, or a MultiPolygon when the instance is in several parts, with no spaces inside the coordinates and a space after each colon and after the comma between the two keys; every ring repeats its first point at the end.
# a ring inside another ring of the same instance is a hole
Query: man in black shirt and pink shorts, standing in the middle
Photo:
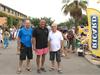
{"type": "Polygon", "coordinates": [[[41,71],[46,72],[44,68],[45,56],[48,53],[48,29],[46,28],[46,21],[40,20],[39,27],[35,28],[33,32],[33,50],[35,51],[37,73],[41,71]]]}

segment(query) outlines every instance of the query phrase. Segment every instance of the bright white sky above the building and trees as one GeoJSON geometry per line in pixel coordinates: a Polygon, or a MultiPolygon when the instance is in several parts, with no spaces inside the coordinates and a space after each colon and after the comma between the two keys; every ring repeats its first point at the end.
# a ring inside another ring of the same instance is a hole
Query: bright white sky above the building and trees
{"type": "MultiPolygon", "coordinates": [[[[90,7],[94,6],[94,2],[91,2],[94,0],[88,1],[90,7]]],[[[62,0],[0,0],[0,3],[31,17],[51,17],[56,23],[64,22],[69,18],[69,15],[65,16],[61,11],[62,0]]],[[[100,6],[96,4],[95,7],[100,6]]]]}

